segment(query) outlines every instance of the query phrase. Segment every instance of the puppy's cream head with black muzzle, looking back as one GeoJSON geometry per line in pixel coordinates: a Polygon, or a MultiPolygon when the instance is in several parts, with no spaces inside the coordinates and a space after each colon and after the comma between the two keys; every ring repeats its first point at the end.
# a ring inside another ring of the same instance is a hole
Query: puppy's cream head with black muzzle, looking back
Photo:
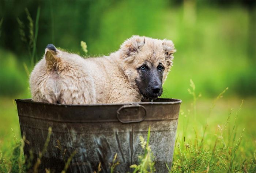
{"type": "Polygon", "coordinates": [[[171,40],[158,40],[132,36],[120,47],[120,66],[129,82],[149,99],[156,99],[163,92],[165,81],[176,52],[171,40]]]}

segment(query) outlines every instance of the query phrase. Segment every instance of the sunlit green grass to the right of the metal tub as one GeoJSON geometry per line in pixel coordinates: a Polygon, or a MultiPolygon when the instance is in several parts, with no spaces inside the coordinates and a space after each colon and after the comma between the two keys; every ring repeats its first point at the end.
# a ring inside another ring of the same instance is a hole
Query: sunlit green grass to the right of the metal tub
{"type": "Polygon", "coordinates": [[[255,98],[221,99],[225,91],[182,106],[171,172],[256,172],[255,98]]]}

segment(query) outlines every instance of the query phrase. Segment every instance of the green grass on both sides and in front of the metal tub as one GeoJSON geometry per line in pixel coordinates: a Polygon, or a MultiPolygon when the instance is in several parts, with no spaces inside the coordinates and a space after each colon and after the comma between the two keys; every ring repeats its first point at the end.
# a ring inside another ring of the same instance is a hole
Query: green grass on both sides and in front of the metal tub
{"type": "MultiPolygon", "coordinates": [[[[190,92],[195,93],[193,89],[190,92]]],[[[256,172],[255,105],[255,98],[242,102],[239,98],[225,98],[225,94],[224,98],[219,95],[212,100],[203,96],[184,100],[170,172],[256,172]]],[[[14,169],[23,172],[22,138],[12,99],[1,97],[0,114],[0,172],[14,169]]],[[[146,148],[150,145],[148,140],[144,143],[146,148]]],[[[153,163],[151,158],[153,156],[145,152],[140,158],[141,165],[133,165],[133,168],[153,172],[154,166],[142,167],[153,163]]]]}

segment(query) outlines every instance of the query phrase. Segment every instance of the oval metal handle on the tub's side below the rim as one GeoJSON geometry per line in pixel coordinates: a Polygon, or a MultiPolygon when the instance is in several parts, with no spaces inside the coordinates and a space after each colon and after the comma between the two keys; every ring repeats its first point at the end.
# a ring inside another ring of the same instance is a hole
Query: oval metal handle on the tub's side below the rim
{"type": "Polygon", "coordinates": [[[145,107],[139,104],[124,105],[116,111],[117,119],[121,123],[142,122],[146,115],[145,107]]]}

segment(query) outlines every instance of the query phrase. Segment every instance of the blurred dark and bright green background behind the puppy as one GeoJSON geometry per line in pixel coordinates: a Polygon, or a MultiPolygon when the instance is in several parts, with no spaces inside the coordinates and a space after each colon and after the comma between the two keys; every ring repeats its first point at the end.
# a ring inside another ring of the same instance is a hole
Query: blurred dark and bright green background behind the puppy
{"type": "Polygon", "coordinates": [[[28,74],[49,43],[84,55],[83,40],[89,55],[101,56],[132,35],[173,40],[177,52],[162,97],[188,105],[193,79],[204,107],[229,87],[220,109],[245,99],[241,122],[255,120],[255,1],[0,1],[0,8],[0,146],[11,127],[19,134],[12,99],[30,98],[28,74]]]}

